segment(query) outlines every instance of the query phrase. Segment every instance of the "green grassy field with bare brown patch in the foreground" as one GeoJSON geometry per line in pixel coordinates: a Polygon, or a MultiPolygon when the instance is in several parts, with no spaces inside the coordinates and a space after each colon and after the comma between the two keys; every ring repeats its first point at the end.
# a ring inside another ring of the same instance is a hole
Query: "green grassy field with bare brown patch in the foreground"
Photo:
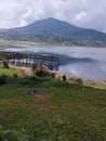
{"type": "Polygon", "coordinates": [[[0,141],[106,141],[106,90],[11,76],[0,85],[0,141]]]}

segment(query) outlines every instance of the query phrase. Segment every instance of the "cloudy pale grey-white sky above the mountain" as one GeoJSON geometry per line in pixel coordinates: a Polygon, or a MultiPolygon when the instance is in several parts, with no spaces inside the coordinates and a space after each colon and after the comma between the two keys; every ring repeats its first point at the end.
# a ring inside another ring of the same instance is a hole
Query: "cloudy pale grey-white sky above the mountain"
{"type": "Polygon", "coordinates": [[[48,17],[106,33],[106,0],[0,0],[0,28],[48,17]]]}

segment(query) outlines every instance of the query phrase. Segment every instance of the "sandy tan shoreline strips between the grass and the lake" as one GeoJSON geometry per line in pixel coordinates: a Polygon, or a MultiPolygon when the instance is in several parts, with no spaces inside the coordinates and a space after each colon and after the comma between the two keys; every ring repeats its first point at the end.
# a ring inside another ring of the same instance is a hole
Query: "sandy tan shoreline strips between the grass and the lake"
{"type": "MultiPolygon", "coordinates": [[[[32,72],[30,67],[19,67],[19,66],[12,66],[15,67],[16,69],[18,69],[18,72],[23,75],[23,76],[31,76],[32,72]]],[[[62,76],[66,75],[66,81],[67,82],[77,82],[77,84],[82,84],[85,87],[92,87],[92,88],[96,88],[96,89],[104,89],[106,90],[106,81],[104,80],[100,80],[100,79],[88,79],[88,78],[82,78],[82,77],[78,77],[76,75],[72,74],[64,74],[64,73],[59,73],[59,72],[52,72],[53,74],[55,74],[55,78],[62,80],[62,76]]]]}

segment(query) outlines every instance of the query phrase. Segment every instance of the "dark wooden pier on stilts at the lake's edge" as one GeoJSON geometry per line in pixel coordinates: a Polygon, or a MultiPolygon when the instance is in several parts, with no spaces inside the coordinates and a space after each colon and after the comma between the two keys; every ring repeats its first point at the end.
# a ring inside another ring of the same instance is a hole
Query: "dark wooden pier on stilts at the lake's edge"
{"type": "Polygon", "coordinates": [[[31,67],[34,63],[50,70],[58,70],[59,60],[56,56],[40,53],[22,53],[0,51],[0,63],[6,60],[10,64],[31,67]]]}

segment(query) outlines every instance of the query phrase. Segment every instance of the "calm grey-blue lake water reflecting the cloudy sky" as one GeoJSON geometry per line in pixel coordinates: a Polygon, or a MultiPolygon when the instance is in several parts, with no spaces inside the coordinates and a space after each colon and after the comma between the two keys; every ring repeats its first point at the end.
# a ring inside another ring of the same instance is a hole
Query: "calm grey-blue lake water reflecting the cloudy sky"
{"type": "Polygon", "coordinates": [[[59,57],[59,73],[106,80],[106,48],[1,46],[0,50],[51,53],[59,57]]]}

